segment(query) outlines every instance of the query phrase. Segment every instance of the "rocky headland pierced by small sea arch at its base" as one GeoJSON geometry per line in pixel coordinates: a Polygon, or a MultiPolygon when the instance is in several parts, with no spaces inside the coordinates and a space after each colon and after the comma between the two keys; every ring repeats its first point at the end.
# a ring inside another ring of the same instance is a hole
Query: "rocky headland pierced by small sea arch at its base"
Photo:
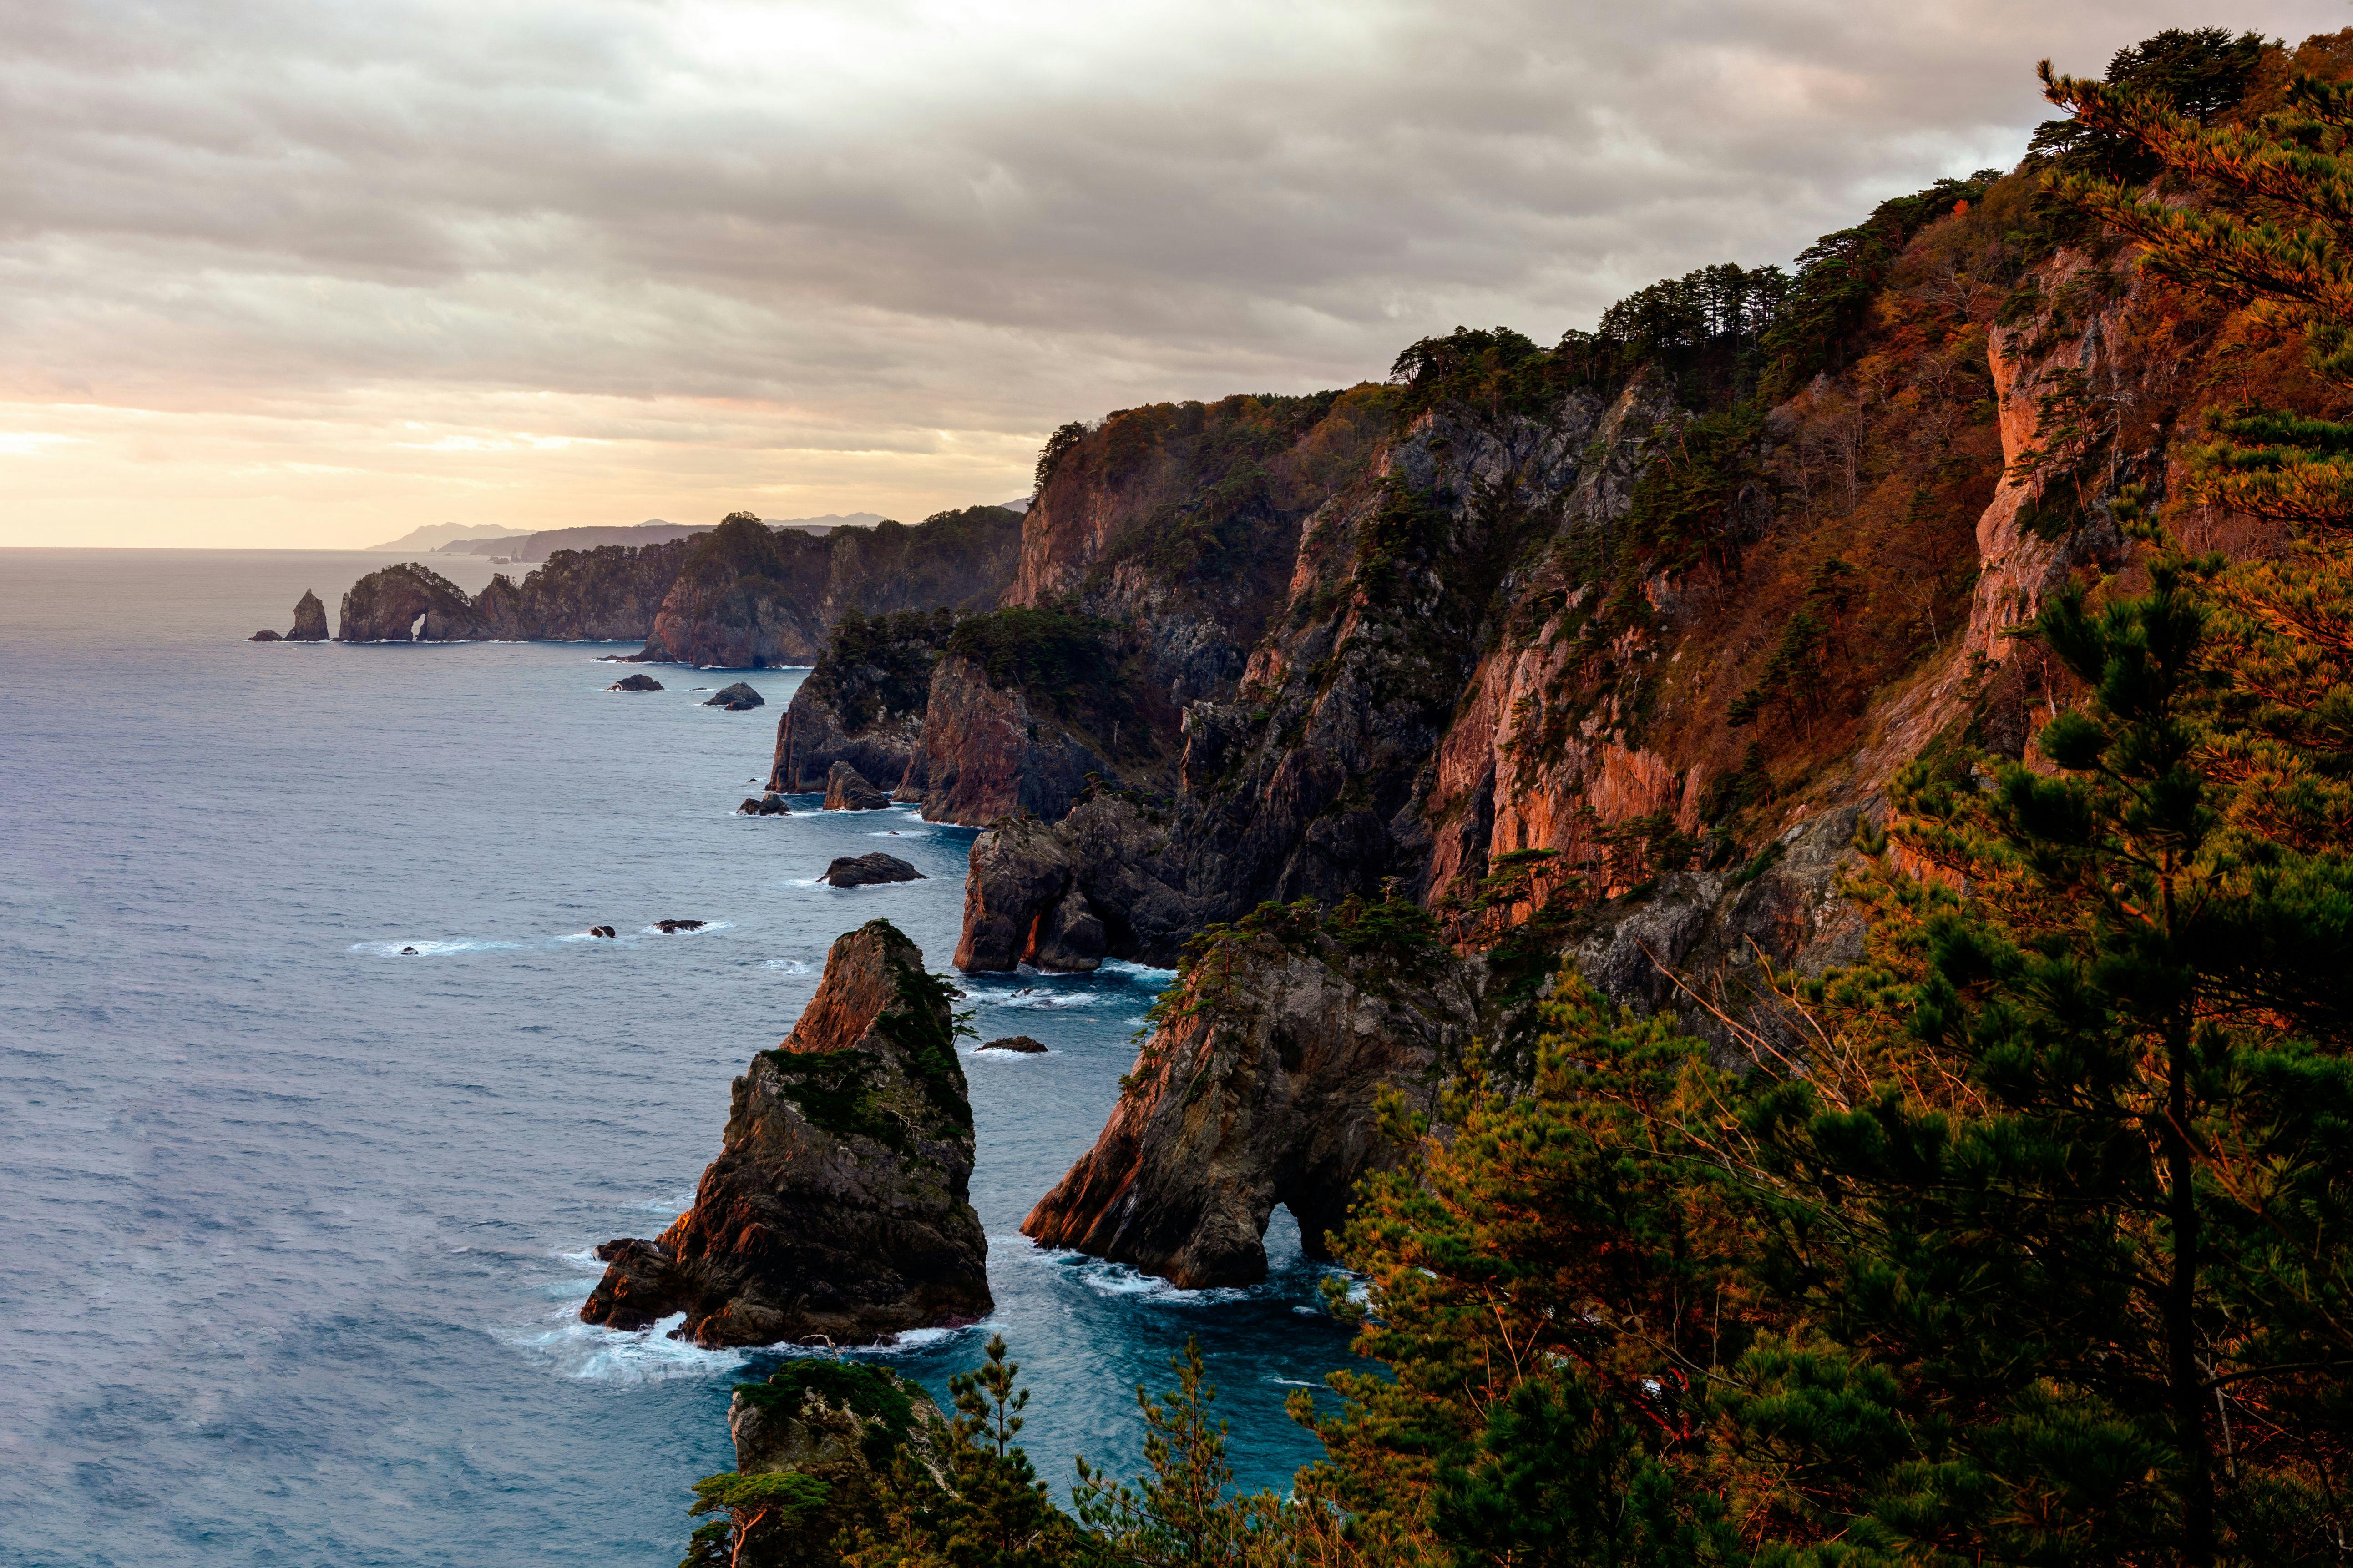
{"type": "Polygon", "coordinates": [[[1186,966],[1101,1138],[1024,1234],[1186,1288],[1252,1284],[1285,1204],[1327,1255],[1355,1182],[1395,1159],[1379,1098],[1428,1110],[1468,1044],[1475,980],[1435,945],[1351,952],[1301,910],[1228,931],[1186,966]]]}

